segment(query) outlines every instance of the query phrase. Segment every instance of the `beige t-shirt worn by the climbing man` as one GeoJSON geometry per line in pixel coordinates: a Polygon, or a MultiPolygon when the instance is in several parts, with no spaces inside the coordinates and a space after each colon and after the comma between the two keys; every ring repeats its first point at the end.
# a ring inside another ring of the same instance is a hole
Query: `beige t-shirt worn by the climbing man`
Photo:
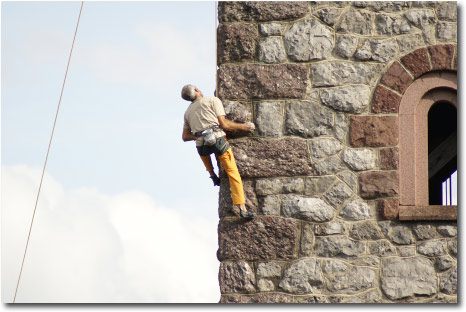
{"type": "MultiPolygon", "coordinates": [[[[184,113],[184,129],[191,129],[191,133],[196,133],[213,126],[219,126],[218,116],[225,116],[225,109],[222,101],[214,96],[204,96],[195,100],[189,105],[184,113]]],[[[215,137],[225,135],[222,130],[215,132],[215,137]]],[[[202,137],[197,138],[196,145],[203,144],[202,137]]]]}

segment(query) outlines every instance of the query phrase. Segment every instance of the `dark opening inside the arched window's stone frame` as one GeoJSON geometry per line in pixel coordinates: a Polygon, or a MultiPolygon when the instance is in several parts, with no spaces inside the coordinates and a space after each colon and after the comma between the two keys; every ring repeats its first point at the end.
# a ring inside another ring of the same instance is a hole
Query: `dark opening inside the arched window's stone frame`
{"type": "Polygon", "coordinates": [[[449,102],[439,101],[429,110],[429,205],[456,205],[456,118],[456,107],[449,102]]]}

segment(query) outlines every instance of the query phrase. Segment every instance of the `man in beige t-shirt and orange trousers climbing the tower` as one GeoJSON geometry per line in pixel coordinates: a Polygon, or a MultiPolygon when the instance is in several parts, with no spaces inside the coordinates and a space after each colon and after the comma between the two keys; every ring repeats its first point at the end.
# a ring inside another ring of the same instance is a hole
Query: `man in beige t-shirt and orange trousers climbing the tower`
{"type": "Polygon", "coordinates": [[[191,102],[184,114],[183,141],[196,141],[197,152],[214,186],[218,186],[220,179],[215,174],[210,159],[210,154],[215,154],[230,181],[233,212],[243,218],[254,218],[256,214],[246,209],[241,176],[223,130],[252,132],[255,125],[252,122],[240,124],[226,119],[222,101],[214,96],[204,96],[193,85],[184,86],[181,90],[181,97],[191,102]]]}

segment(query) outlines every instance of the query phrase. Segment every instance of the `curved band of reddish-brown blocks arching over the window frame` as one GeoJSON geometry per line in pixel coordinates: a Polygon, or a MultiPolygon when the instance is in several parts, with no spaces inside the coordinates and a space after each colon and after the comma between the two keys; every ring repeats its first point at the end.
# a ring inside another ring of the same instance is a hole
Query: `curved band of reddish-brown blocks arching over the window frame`
{"type": "Polygon", "coordinates": [[[375,87],[372,112],[399,113],[403,94],[417,78],[432,71],[457,71],[456,54],[452,44],[431,45],[395,60],[375,87]]]}

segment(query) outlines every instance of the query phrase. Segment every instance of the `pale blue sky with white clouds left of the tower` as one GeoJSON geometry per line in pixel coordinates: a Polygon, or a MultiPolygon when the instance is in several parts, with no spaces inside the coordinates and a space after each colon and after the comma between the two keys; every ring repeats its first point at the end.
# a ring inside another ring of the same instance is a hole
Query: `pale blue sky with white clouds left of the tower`
{"type": "MultiPolygon", "coordinates": [[[[2,2],[2,302],[12,302],[80,2],[2,2]]],[[[218,302],[218,188],[181,140],[215,3],[85,2],[16,302],[218,302]]]]}

